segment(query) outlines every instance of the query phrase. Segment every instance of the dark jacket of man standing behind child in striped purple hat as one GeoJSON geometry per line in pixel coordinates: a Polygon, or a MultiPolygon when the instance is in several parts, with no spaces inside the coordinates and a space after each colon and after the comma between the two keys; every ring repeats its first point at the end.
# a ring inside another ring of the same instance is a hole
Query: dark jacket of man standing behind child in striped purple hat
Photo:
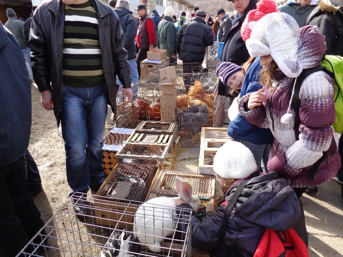
{"type": "MultiPolygon", "coordinates": [[[[256,3],[258,0],[250,0],[248,7],[246,7],[242,16],[237,14],[231,29],[225,38],[224,47],[221,54],[222,62],[231,62],[237,65],[244,64],[249,58],[248,50],[245,47],[245,42],[241,36],[241,27],[245,20],[246,14],[256,9],[256,3]]],[[[218,94],[225,95],[227,92],[226,86],[219,81],[218,94]]]]}

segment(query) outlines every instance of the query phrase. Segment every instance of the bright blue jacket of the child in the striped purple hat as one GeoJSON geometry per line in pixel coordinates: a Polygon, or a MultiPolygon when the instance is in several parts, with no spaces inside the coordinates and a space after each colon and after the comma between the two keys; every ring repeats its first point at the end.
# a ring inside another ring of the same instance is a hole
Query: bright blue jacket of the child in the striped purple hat
{"type": "MultiPolygon", "coordinates": [[[[246,72],[240,97],[248,93],[256,92],[262,88],[259,84],[260,70],[260,57],[257,57],[255,61],[250,64],[246,72]]],[[[227,133],[234,140],[245,140],[255,144],[267,144],[271,143],[273,140],[270,129],[263,129],[250,124],[241,113],[230,122],[227,133]]]]}

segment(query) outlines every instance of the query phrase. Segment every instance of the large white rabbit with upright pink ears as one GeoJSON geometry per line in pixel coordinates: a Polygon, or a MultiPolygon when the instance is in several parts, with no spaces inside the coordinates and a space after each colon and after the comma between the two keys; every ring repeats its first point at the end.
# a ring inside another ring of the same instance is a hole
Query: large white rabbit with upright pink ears
{"type": "Polygon", "coordinates": [[[161,252],[163,237],[171,235],[176,227],[176,206],[174,199],[182,199],[193,210],[199,208],[199,198],[192,194],[192,186],[176,177],[178,197],[156,197],[142,204],[135,214],[133,232],[141,243],[147,244],[151,252],[161,252]]]}

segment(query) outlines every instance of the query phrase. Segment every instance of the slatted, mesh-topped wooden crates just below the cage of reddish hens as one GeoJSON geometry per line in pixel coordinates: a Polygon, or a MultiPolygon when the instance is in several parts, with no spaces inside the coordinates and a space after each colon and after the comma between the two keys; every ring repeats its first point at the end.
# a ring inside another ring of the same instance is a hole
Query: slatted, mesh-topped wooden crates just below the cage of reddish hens
{"type": "Polygon", "coordinates": [[[172,150],[176,131],[175,122],[142,121],[123,144],[117,158],[128,160],[126,162],[156,161],[163,168],[163,161],[172,150]]]}

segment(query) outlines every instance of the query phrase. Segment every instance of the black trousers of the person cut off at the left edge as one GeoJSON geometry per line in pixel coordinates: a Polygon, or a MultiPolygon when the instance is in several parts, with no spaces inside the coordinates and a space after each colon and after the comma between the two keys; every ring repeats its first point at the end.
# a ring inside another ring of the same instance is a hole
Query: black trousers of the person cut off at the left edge
{"type": "Polygon", "coordinates": [[[0,256],[14,257],[44,225],[26,182],[26,161],[0,168],[0,256]]]}

